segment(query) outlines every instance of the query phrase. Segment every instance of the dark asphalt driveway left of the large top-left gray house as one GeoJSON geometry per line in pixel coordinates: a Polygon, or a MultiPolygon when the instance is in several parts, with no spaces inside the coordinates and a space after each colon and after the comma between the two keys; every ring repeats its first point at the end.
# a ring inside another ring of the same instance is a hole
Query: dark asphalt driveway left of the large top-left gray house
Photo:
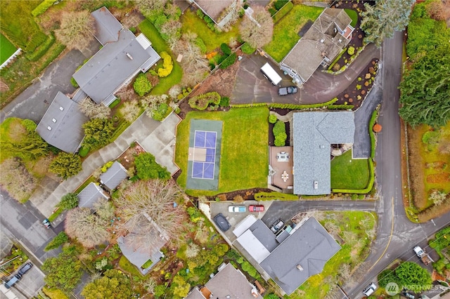
{"type": "Polygon", "coordinates": [[[53,61],[31,86],[1,109],[0,122],[7,117],[19,117],[39,123],[58,91],[62,93],[75,91],[70,84],[72,74],[86,58],[90,58],[98,51],[99,46],[100,43],[94,40],[91,41],[89,48],[84,48],[82,52],[79,50],[64,52],[63,56],[53,61]]]}

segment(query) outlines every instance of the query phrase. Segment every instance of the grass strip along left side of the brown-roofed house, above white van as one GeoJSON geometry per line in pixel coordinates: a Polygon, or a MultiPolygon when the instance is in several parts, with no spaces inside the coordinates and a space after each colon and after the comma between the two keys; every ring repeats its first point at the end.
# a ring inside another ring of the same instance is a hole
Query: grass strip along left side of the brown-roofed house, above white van
{"type": "Polygon", "coordinates": [[[280,62],[300,39],[298,32],[308,20],[314,22],[321,14],[323,8],[314,6],[296,5],[274,26],[272,41],[264,46],[274,60],[280,62]]]}

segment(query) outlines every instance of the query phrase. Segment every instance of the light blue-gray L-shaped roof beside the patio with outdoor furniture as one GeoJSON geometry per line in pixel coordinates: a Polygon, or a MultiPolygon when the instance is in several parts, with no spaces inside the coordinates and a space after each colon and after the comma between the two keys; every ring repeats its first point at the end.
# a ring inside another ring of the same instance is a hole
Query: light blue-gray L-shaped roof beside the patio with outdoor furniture
{"type": "Polygon", "coordinates": [[[330,194],[330,145],[353,143],[353,112],[297,112],[293,128],[294,194],[330,194]]]}

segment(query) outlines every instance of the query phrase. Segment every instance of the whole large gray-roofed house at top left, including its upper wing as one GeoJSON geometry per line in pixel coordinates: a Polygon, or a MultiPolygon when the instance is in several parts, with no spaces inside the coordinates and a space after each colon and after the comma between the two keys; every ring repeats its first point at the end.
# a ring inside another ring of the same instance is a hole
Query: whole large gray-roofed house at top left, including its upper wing
{"type": "Polygon", "coordinates": [[[96,39],[103,48],[73,74],[79,88],[97,104],[110,105],[115,93],[139,72],[147,72],[160,55],[143,34],[135,36],[104,6],[91,13],[96,20],[96,39]]]}

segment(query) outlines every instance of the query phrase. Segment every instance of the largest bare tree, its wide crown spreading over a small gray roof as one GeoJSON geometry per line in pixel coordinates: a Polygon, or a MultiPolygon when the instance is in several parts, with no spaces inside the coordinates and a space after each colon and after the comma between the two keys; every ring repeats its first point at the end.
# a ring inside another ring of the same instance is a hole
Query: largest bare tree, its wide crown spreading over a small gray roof
{"type": "Polygon", "coordinates": [[[141,180],[124,190],[117,201],[117,215],[125,221],[120,227],[122,233],[134,233],[132,244],[139,248],[145,244],[148,251],[152,251],[152,244],[148,240],[153,239],[160,232],[155,222],[169,239],[176,238],[186,220],[185,211],[174,207],[174,201],[181,197],[181,190],[173,180],[141,180]]]}

